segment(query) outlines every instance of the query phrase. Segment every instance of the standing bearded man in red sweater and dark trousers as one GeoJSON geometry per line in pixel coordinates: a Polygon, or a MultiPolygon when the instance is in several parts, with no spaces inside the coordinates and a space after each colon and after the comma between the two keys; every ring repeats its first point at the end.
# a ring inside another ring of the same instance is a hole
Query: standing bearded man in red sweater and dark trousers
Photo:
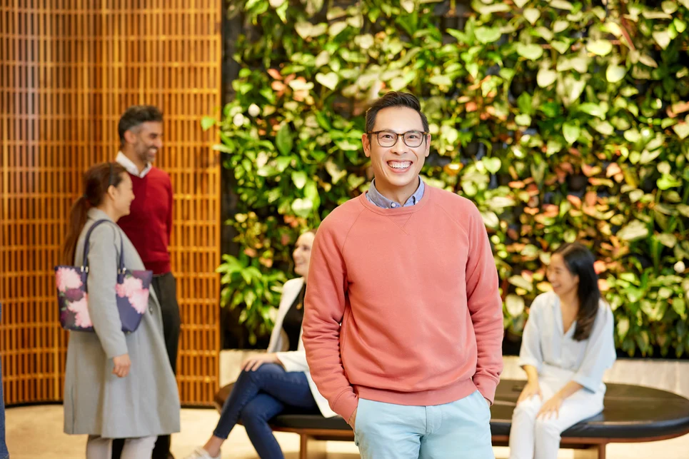
{"type": "MultiPolygon", "coordinates": [[[[155,106],[131,106],[117,126],[121,150],[115,161],[131,176],[134,201],[131,211],[117,222],[134,244],[146,269],[153,271],[151,285],[161,305],[165,347],[173,373],[177,368],[179,307],[176,280],[170,263],[172,233],[172,183],[170,176],[153,166],[163,147],[163,114],[155,106]]],[[[119,459],[121,442],[114,442],[113,459],[119,459]]],[[[170,436],[156,441],[152,459],[170,459],[170,436]]]]}

